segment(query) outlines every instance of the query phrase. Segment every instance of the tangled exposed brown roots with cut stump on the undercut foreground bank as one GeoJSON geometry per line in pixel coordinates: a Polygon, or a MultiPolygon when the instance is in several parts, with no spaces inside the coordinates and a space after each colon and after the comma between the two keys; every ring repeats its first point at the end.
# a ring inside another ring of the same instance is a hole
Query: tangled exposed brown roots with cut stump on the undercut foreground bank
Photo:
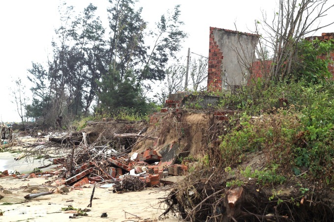
{"type": "Polygon", "coordinates": [[[193,222],[334,221],[333,203],[320,201],[323,195],[273,196],[271,189],[259,190],[254,183],[226,187],[219,170],[200,171],[171,189],[162,202],[167,207],[161,218],[171,213],[193,222]]]}

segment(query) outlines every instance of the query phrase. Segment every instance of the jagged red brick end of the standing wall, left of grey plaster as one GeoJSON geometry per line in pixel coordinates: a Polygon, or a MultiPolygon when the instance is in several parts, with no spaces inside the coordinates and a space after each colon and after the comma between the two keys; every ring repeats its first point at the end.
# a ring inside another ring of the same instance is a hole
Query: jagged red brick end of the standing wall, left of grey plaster
{"type": "Polygon", "coordinates": [[[215,27],[210,27],[209,37],[209,69],[208,69],[208,90],[221,91],[222,90],[222,70],[223,52],[219,48],[213,30],[215,27]]]}

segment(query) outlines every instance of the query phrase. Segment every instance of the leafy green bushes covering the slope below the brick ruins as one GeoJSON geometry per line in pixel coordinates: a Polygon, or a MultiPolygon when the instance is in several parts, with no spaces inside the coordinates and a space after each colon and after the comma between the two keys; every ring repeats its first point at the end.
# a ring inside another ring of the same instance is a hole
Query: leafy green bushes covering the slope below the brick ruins
{"type": "MultiPolygon", "coordinates": [[[[221,136],[223,167],[236,167],[249,153],[261,151],[267,171],[246,173],[249,177],[255,176],[258,182],[281,183],[285,176],[303,173],[333,186],[332,81],[314,85],[293,81],[262,91],[242,88],[238,95],[227,94],[219,108],[231,106],[237,107],[240,112],[231,118],[226,135],[221,136]],[[280,92],[285,92],[289,103],[282,108],[278,103],[280,92]],[[252,102],[251,98],[255,97],[261,102],[252,102]],[[247,104],[242,103],[245,98],[249,98],[247,104]]],[[[243,170],[244,173],[246,171],[243,170]]]]}

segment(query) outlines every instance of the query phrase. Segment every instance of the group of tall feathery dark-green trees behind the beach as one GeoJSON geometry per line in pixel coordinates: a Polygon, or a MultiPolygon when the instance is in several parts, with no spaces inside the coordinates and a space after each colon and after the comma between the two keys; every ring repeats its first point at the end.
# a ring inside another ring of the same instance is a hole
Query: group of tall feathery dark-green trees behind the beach
{"type": "Polygon", "coordinates": [[[109,27],[104,27],[93,4],[79,15],[72,6],[59,10],[61,25],[47,66],[33,62],[28,70],[33,99],[26,106],[27,117],[52,125],[57,116],[89,115],[92,104],[95,114],[149,112],[152,104],[146,92],[151,82],[170,74],[168,63],[177,60],[187,37],[181,30],[180,5],[148,30],[134,0],[109,3],[109,27]]]}

